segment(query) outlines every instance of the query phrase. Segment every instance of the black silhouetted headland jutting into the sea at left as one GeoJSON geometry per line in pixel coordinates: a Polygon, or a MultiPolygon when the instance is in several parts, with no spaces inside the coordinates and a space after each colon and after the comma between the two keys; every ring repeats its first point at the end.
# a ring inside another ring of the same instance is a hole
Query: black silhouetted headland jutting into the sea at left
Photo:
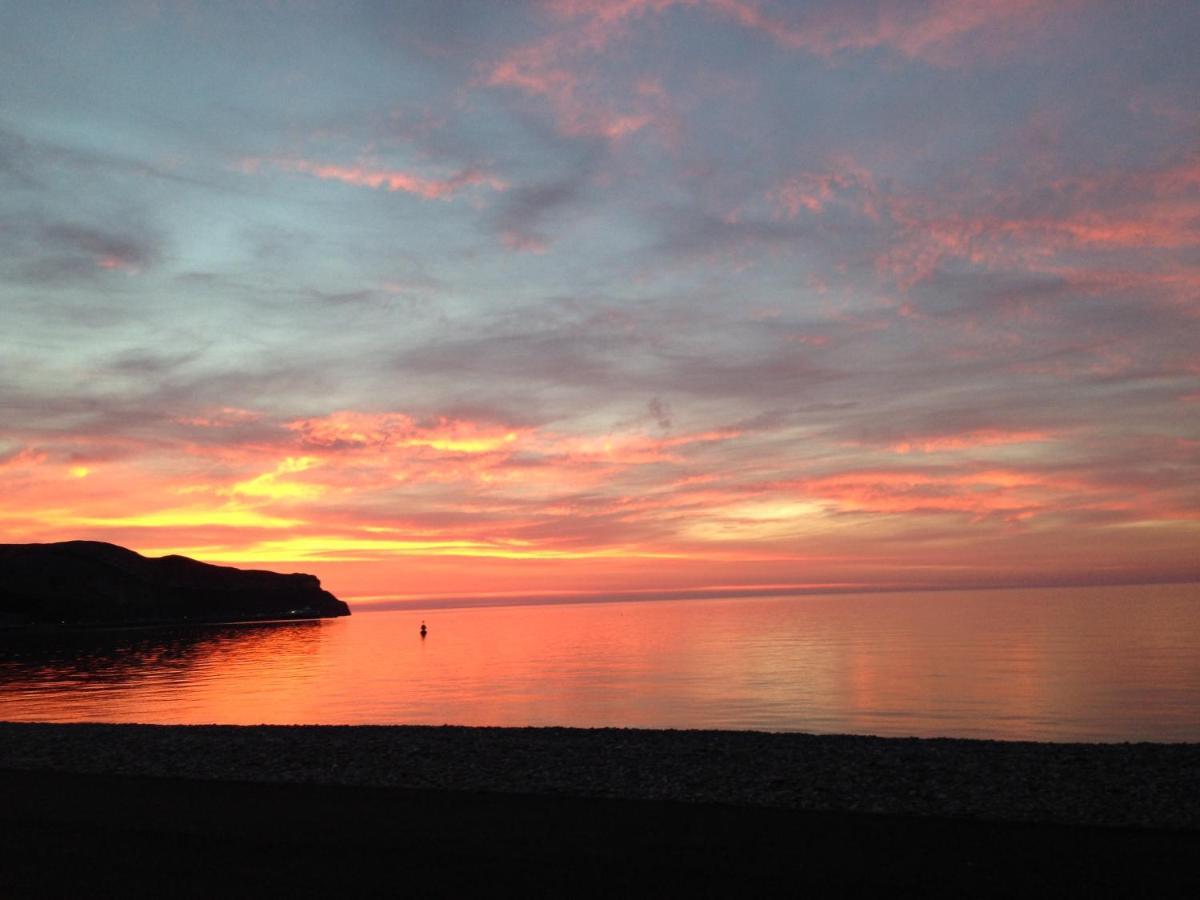
{"type": "Polygon", "coordinates": [[[133,625],[349,616],[312,575],[144,557],[98,541],[0,544],[0,625],[133,625]]]}

